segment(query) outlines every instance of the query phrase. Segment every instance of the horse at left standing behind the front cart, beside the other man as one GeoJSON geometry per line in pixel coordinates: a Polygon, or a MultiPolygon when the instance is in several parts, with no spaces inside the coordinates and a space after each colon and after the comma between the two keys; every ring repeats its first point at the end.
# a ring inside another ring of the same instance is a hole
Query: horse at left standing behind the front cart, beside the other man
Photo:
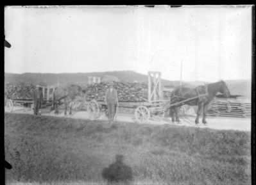
{"type": "Polygon", "coordinates": [[[72,102],[77,96],[83,97],[84,90],[77,84],[71,84],[67,86],[57,86],[53,92],[53,109],[55,114],[58,114],[58,106],[64,104],[65,115],[67,115],[67,105],[69,104],[69,115],[72,114],[72,102]]]}

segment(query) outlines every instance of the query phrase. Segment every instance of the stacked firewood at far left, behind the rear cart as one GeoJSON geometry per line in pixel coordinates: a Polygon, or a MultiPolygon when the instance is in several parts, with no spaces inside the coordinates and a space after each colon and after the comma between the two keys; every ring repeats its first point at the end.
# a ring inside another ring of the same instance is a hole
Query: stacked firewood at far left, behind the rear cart
{"type": "Polygon", "coordinates": [[[31,99],[31,90],[34,86],[5,86],[4,97],[8,99],[31,99]]]}

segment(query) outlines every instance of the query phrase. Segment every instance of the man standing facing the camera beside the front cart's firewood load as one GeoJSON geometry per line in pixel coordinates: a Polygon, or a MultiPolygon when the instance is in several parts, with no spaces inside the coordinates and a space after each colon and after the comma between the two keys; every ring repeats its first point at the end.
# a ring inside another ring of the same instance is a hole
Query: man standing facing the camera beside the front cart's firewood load
{"type": "Polygon", "coordinates": [[[115,111],[118,104],[117,90],[114,89],[114,83],[111,82],[108,85],[108,89],[105,95],[105,103],[108,106],[108,121],[111,124],[115,117],[115,111]]]}

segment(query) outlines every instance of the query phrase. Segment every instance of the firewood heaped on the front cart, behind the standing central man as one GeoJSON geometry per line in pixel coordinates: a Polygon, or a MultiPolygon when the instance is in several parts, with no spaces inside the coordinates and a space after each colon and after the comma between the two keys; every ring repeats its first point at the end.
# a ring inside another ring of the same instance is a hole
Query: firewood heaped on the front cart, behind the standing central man
{"type": "MultiPolygon", "coordinates": [[[[90,84],[86,88],[87,101],[96,99],[104,101],[108,83],[90,84]]],[[[145,102],[148,101],[148,84],[146,83],[123,83],[114,84],[118,99],[121,102],[145,102]]]]}

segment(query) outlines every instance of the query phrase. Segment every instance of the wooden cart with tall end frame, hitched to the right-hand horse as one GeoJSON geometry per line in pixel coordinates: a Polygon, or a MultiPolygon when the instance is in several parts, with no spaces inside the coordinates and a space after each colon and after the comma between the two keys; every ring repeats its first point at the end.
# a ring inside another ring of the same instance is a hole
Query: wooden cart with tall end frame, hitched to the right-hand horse
{"type": "MultiPolygon", "coordinates": [[[[182,106],[185,102],[198,99],[198,96],[185,99],[180,102],[171,103],[168,99],[162,98],[162,86],[160,72],[148,73],[148,102],[119,102],[119,108],[133,108],[136,122],[145,123],[149,119],[160,121],[164,118],[165,112],[173,106],[182,106]]],[[[204,95],[200,95],[204,96],[204,95]]],[[[89,103],[87,111],[91,119],[99,118],[99,112],[106,110],[104,102],[93,100],[89,103]]]]}

